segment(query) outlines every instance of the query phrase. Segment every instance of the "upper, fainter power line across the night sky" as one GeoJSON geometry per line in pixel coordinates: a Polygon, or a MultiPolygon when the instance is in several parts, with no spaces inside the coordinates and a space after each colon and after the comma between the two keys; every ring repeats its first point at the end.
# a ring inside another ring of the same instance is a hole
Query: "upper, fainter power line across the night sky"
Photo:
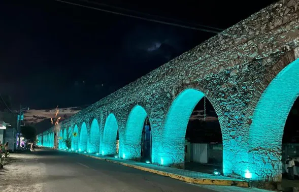
{"type": "Polygon", "coordinates": [[[158,18],[161,18],[161,19],[167,19],[167,20],[171,20],[171,21],[174,21],[174,22],[186,23],[186,24],[189,24],[189,25],[196,25],[196,26],[216,29],[216,30],[219,30],[219,31],[224,30],[222,28],[217,28],[217,27],[212,27],[212,26],[208,26],[208,25],[202,25],[202,24],[197,24],[197,23],[190,23],[190,22],[180,21],[180,20],[177,20],[177,19],[169,18],[169,17],[162,17],[162,16],[159,16],[159,15],[143,13],[143,12],[139,12],[139,11],[135,11],[135,10],[130,10],[130,9],[125,9],[125,8],[121,8],[121,7],[111,6],[111,5],[107,5],[107,4],[103,4],[103,3],[97,3],[97,2],[93,2],[93,1],[89,1],[89,0],[79,0],[79,1],[86,2],[86,3],[89,3],[89,4],[98,5],[98,6],[105,6],[105,7],[110,7],[110,8],[113,8],[113,9],[118,9],[118,10],[128,11],[128,12],[132,12],[132,13],[142,14],[142,15],[146,15],[146,16],[158,17],[158,18]]]}

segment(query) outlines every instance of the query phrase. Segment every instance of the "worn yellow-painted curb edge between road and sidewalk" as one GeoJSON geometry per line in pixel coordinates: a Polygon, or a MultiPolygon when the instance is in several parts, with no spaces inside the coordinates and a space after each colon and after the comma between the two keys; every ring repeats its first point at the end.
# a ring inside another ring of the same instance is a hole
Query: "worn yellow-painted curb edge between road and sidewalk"
{"type": "MultiPolygon", "coordinates": [[[[80,154],[80,153],[77,153],[77,154],[80,154]]],[[[100,160],[106,161],[106,162],[111,162],[111,163],[127,166],[127,167],[132,167],[132,168],[135,168],[135,169],[139,169],[139,170],[142,170],[142,171],[147,171],[147,172],[150,172],[150,173],[155,173],[155,174],[162,175],[162,176],[171,177],[173,179],[177,179],[177,180],[184,181],[184,182],[187,182],[187,183],[204,184],[204,185],[226,185],[226,186],[249,187],[249,183],[246,182],[246,181],[192,178],[192,177],[187,177],[187,176],[183,176],[183,175],[177,175],[177,174],[174,174],[174,173],[168,173],[168,172],[159,171],[159,170],[155,170],[155,169],[145,168],[145,167],[142,167],[142,166],[136,166],[136,165],[131,165],[131,164],[122,163],[122,162],[118,162],[118,161],[113,161],[111,159],[107,159],[107,158],[103,158],[103,157],[97,157],[97,156],[88,155],[88,154],[81,154],[81,155],[96,158],[96,159],[100,159],[100,160]]]]}

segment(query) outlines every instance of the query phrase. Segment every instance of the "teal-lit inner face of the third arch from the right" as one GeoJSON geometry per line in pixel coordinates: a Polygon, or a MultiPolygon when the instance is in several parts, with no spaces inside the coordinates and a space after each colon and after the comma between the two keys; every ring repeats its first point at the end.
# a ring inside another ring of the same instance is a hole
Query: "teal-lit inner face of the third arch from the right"
{"type": "Polygon", "coordinates": [[[141,136],[147,113],[143,107],[136,105],[129,113],[121,147],[121,157],[134,159],[141,157],[141,136]]]}

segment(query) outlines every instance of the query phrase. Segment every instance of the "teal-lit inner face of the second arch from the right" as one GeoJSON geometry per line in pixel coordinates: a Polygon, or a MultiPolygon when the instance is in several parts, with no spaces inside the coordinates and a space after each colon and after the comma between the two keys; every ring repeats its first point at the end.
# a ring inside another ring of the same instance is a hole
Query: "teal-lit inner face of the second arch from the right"
{"type": "Polygon", "coordinates": [[[165,118],[161,138],[158,138],[158,144],[153,146],[154,163],[161,165],[184,163],[187,124],[194,107],[203,97],[203,92],[189,88],[174,99],[165,118]]]}

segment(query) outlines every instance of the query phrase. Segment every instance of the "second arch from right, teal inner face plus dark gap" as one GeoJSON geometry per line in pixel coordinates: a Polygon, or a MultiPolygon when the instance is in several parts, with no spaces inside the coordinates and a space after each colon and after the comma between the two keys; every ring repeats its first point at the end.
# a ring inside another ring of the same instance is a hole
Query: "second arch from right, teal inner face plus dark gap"
{"type": "MultiPolygon", "coordinates": [[[[159,153],[155,161],[160,165],[176,165],[203,172],[200,163],[217,159],[217,170],[222,172],[221,127],[218,115],[202,91],[188,88],[177,95],[165,117],[161,142],[157,147],[159,153]],[[218,145],[220,151],[211,152],[214,145],[218,145]],[[200,149],[207,154],[204,158],[196,155],[200,149]]],[[[213,174],[214,169],[207,172],[213,174]]]]}

